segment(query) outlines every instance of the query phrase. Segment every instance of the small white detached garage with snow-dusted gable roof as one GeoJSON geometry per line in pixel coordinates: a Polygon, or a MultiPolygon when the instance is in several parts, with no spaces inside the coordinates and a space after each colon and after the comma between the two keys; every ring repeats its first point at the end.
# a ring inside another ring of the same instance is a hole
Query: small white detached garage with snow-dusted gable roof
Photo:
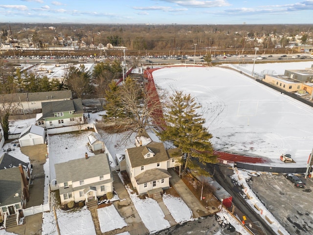
{"type": "Polygon", "coordinates": [[[45,128],[31,125],[22,131],[19,138],[20,146],[29,146],[45,143],[45,128]]]}

